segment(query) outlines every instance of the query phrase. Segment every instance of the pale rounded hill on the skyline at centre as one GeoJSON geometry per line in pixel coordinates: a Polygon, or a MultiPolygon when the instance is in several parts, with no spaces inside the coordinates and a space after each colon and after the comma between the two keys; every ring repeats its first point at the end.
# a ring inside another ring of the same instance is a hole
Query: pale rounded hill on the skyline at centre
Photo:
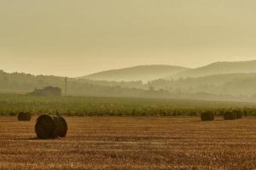
{"type": "Polygon", "coordinates": [[[143,81],[148,82],[162,77],[177,74],[180,71],[188,71],[189,68],[172,65],[139,65],[119,70],[102,71],[85,77],[90,80],[105,80],[116,82],[143,81]]]}

